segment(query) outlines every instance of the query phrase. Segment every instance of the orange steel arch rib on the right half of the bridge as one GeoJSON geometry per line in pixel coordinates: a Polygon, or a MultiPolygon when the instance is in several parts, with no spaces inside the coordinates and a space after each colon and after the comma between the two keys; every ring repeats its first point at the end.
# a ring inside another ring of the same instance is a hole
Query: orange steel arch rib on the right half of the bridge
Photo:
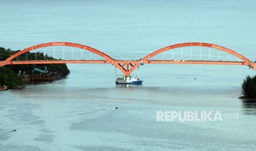
{"type": "MultiPolygon", "coordinates": [[[[243,60],[244,63],[243,65],[249,65],[249,63],[251,62],[249,59],[247,59],[246,57],[242,56],[241,54],[236,53],[235,51],[222,47],[220,45],[216,45],[216,44],[210,44],[210,43],[198,43],[198,42],[192,42],[192,43],[180,43],[180,44],[175,44],[175,45],[170,45],[168,47],[165,48],[161,48],[159,50],[154,51],[153,53],[145,56],[142,60],[143,63],[153,63],[152,61],[150,61],[149,59],[151,57],[156,56],[157,54],[163,53],[164,51],[167,50],[171,50],[171,49],[175,49],[175,48],[181,48],[181,47],[192,47],[192,46],[198,46],[198,47],[209,47],[209,48],[215,48],[215,49],[219,49],[222,51],[226,51],[229,54],[235,55],[237,56],[239,59],[243,60]]],[[[205,62],[205,61],[204,61],[205,62]]],[[[208,61],[209,62],[209,61],[208,61]]],[[[211,61],[211,62],[215,62],[215,61],[211,61]]],[[[226,61],[227,62],[227,61],[226,61]]],[[[211,64],[211,63],[208,63],[211,64]]],[[[212,63],[214,64],[214,63],[212,63]]]]}

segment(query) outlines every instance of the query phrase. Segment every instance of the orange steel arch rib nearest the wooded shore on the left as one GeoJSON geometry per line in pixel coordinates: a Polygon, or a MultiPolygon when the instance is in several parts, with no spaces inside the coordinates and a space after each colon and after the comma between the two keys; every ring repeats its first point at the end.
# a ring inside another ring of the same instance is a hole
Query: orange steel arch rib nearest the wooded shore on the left
{"type": "Polygon", "coordinates": [[[9,65],[10,61],[13,60],[15,57],[17,57],[21,54],[24,54],[28,51],[38,49],[38,48],[43,48],[43,47],[51,47],[51,46],[68,46],[68,47],[80,48],[80,49],[91,51],[92,53],[95,53],[97,55],[104,57],[107,60],[106,62],[111,62],[111,60],[113,60],[112,57],[101,52],[100,50],[88,47],[86,45],[81,45],[81,44],[77,44],[77,43],[69,43],[69,42],[51,42],[51,43],[43,43],[43,44],[39,44],[39,45],[34,45],[32,47],[29,47],[29,48],[19,51],[18,53],[14,54],[14,55],[10,56],[8,59],[6,59],[5,65],[9,65]]]}

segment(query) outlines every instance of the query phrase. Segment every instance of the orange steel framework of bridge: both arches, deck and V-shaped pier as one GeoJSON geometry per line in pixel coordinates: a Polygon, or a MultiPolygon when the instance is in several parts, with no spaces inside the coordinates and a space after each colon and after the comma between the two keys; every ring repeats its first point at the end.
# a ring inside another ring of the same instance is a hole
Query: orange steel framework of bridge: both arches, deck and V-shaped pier
{"type": "Polygon", "coordinates": [[[214,65],[247,65],[250,67],[256,68],[256,63],[248,60],[246,57],[242,56],[241,54],[236,53],[235,51],[221,47],[219,45],[215,44],[209,44],[209,43],[198,43],[198,42],[191,42],[191,43],[180,43],[175,45],[170,45],[165,48],[161,48],[159,50],[154,51],[153,53],[145,56],[143,59],[140,60],[115,60],[112,59],[112,57],[108,56],[105,53],[102,53],[101,51],[88,47],[86,45],[81,45],[77,43],[69,43],[69,42],[52,42],[52,43],[44,43],[35,45],[29,48],[26,48],[24,50],[19,51],[18,53],[14,54],[13,56],[10,56],[5,61],[0,61],[0,67],[5,65],[25,65],[25,64],[52,64],[52,63],[111,63],[112,65],[115,65],[117,68],[119,68],[125,76],[129,76],[134,69],[140,66],[140,63],[175,63],[175,64],[214,64],[214,65]],[[95,53],[97,55],[100,55],[104,57],[106,60],[31,60],[31,61],[12,61],[15,57],[24,54],[28,51],[43,48],[43,47],[51,47],[51,46],[68,46],[68,47],[75,47],[80,48],[84,50],[91,51],[92,53],[95,53]],[[226,51],[229,54],[237,56],[239,59],[243,60],[244,62],[238,62],[238,61],[202,61],[202,60],[149,60],[151,57],[156,56],[157,54],[163,53],[164,51],[175,49],[175,48],[181,48],[181,47],[192,47],[192,46],[198,46],[198,47],[209,47],[209,48],[215,48],[222,51],[226,51]]]}

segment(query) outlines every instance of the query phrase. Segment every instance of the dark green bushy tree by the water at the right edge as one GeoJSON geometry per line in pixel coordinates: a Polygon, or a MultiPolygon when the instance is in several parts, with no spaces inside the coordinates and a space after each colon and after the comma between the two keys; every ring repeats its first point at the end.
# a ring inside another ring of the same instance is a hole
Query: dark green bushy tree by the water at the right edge
{"type": "Polygon", "coordinates": [[[242,84],[242,99],[256,100],[256,75],[249,75],[243,80],[242,84]]]}

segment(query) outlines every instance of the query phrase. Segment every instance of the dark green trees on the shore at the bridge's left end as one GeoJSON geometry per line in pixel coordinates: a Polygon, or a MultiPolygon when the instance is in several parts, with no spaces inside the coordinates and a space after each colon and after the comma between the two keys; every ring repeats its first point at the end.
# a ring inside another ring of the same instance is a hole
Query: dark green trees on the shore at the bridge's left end
{"type": "MultiPolygon", "coordinates": [[[[20,50],[14,51],[10,49],[4,49],[0,47],[0,61],[6,60],[8,57],[17,53],[20,50]]],[[[13,60],[56,60],[51,56],[43,55],[43,53],[25,53],[13,60]]],[[[7,65],[4,67],[0,67],[0,86],[6,85],[9,88],[17,88],[19,86],[23,86],[24,82],[22,80],[22,76],[17,76],[19,71],[25,72],[25,74],[31,74],[32,70],[36,68],[44,69],[44,66],[47,66],[48,71],[58,72],[62,75],[69,74],[69,69],[66,64],[56,64],[56,65],[7,65]]]]}

